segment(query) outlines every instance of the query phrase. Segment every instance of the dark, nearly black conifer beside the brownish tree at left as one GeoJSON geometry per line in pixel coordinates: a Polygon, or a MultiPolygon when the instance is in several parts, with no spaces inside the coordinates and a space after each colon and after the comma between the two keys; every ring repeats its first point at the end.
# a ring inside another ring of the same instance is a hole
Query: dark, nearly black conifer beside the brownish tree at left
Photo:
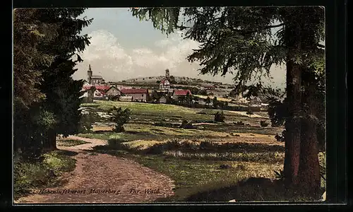
{"type": "Polygon", "coordinates": [[[58,30],[56,37],[44,42],[40,49],[56,57],[48,69],[43,72],[44,82],[40,88],[47,95],[44,107],[52,111],[58,120],[56,127],[47,132],[47,148],[56,148],[56,135],[68,136],[78,132],[80,122],[80,90],[83,81],[75,81],[71,76],[77,71],[76,64],[83,61],[79,53],[90,45],[88,35],[78,35],[92,19],[80,19],[85,8],[41,9],[39,19],[50,21],[58,30]],[[73,60],[76,56],[77,59],[73,60]]]}

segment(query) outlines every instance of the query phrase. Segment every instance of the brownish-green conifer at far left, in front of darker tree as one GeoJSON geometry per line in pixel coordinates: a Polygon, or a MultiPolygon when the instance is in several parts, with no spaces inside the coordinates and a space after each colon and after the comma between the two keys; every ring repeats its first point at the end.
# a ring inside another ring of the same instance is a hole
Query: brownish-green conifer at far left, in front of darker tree
{"type": "Polygon", "coordinates": [[[35,123],[32,110],[38,107],[45,95],[38,86],[42,82],[42,71],[50,66],[52,55],[44,54],[37,46],[52,38],[45,24],[37,21],[37,9],[15,9],[13,16],[13,131],[16,153],[30,152],[40,148],[40,142],[33,143],[30,131],[35,123]]]}

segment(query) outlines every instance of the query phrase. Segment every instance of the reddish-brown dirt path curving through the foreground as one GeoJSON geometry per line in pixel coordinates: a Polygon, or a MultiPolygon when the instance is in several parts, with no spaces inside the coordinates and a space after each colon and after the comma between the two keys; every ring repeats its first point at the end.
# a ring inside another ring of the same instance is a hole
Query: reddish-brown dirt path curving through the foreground
{"type": "Polygon", "coordinates": [[[142,203],[173,194],[174,184],[167,176],[133,160],[85,151],[93,146],[104,145],[107,141],[78,136],[69,136],[67,139],[80,139],[90,143],[59,147],[77,153],[73,156],[77,160],[76,169],[64,175],[68,180],[67,184],[45,189],[44,193],[64,191],[66,194],[41,194],[37,190],[35,194],[18,199],[16,203],[142,203]],[[69,194],[71,192],[75,193],[69,194]]]}

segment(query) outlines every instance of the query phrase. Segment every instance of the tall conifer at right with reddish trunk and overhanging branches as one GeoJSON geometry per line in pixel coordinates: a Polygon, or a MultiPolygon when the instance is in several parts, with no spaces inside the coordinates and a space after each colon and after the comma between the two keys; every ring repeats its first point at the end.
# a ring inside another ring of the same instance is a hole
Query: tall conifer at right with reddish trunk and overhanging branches
{"type": "Polygon", "coordinates": [[[189,61],[201,61],[203,74],[234,73],[237,87],[269,76],[273,64],[286,64],[285,184],[318,190],[318,112],[311,97],[313,76],[324,64],[322,7],[133,8],[132,13],[167,34],[186,30],[186,38],[201,43],[189,61]]]}

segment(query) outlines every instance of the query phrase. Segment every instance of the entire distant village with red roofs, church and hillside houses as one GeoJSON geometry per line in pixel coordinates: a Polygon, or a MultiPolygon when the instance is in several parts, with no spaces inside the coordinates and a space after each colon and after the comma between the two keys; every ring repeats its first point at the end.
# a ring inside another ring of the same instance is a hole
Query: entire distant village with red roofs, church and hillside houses
{"type": "Polygon", "coordinates": [[[189,86],[184,85],[184,83],[179,84],[173,79],[175,83],[172,84],[169,69],[165,70],[161,81],[155,81],[155,83],[142,82],[135,85],[132,82],[126,83],[126,81],[106,83],[102,76],[92,74],[90,65],[87,73],[88,79],[84,80],[81,90],[83,92],[81,96],[83,102],[93,102],[93,100],[150,102],[198,108],[212,106],[222,109],[227,107],[228,110],[236,110],[237,107],[242,108],[241,110],[254,112],[266,110],[268,105],[265,98],[261,97],[244,98],[241,93],[230,97],[229,93],[232,91],[232,86],[225,86],[222,83],[198,83],[196,86],[189,86]],[[197,93],[193,93],[191,90],[196,90],[197,93]],[[214,105],[215,99],[217,105],[214,105]]]}

